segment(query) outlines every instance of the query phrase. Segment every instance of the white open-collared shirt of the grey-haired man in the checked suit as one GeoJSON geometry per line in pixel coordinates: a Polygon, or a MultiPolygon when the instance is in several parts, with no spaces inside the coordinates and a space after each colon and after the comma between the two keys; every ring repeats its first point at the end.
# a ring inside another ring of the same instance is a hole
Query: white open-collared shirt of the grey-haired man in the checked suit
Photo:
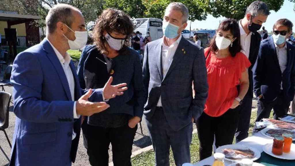
{"type": "MultiPolygon", "coordinates": [[[[173,61],[173,56],[176,52],[176,49],[178,47],[178,44],[181,40],[182,35],[178,37],[178,39],[172,43],[170,46],[165,45],[163,38],[163,43],[162,43],[162,68],[163,68],[163,78],[165,78],[166,73],[171,65],[171,62],[173,61]]],[[[162,107],[162,101],[161,101],[161,96],[158,101],[157,107],[162,107]]]]}

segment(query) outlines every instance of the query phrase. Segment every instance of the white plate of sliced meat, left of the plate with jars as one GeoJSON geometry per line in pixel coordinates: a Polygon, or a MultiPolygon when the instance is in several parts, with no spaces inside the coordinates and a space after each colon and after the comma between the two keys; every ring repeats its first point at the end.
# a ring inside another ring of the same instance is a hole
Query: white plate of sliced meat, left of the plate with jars
{"type": "MultiPolygon", "coordinates": [[[[252,161],[258,160],[260,158],[260,156],[261,156],[260,152],[256,148],[245,146],[245,145],[239,145],[239,144],[224,145],[224,146],[218,147],[216,149],[216,153],[222,153],[223,149],[225,149],[225,148],[229,148],[229,149],[250,149],[250,150],[252,150],[254,152],[254,158],[250,159],[252,161]]],[[[224,160],[232,161],[232,162],[239,162],[242,159],[232,160],[232,159],[225,158],[224,160]]]]}

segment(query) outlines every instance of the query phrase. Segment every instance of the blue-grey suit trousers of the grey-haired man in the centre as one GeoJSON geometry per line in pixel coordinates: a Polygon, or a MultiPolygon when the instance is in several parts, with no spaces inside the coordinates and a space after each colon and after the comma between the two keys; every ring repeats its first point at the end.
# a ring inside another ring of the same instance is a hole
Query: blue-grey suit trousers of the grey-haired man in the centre
{"type": "Polygon", "coordinates": [[[191,162],[189,145],[193,132],[192,123],[174,131],[168,125],[162,108],[157,108],[153,117],[146,122],[155,151],[156,166],[169,166],[170,146],[176,166],[191,162]]]}

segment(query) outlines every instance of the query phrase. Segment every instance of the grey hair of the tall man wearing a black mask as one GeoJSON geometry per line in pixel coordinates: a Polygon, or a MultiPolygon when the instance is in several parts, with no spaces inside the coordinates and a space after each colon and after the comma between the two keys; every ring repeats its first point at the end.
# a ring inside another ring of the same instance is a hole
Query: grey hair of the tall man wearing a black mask
{"type": "Polygon", "coordinates": [[[251,16],[256,17],[259,14],[262,14],[264,16],[268,16],[270,14],[268,7],[266,3],[262,1],[254,1],[252,2],[246,10],[246,14],[251,14],[251,16]]]}

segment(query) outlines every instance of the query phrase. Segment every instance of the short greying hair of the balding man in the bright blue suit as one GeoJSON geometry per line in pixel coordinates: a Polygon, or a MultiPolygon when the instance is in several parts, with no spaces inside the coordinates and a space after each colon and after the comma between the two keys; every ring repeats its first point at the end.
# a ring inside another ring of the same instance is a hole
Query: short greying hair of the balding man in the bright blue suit
{"type": "Polygon", "coordinates": [[[45,19],[47,34],[55,31],[58,22],[63,22],[71,28],[74,20],[73,10],[80,12],[79,9],[68,4],[57,4],[52,7],[45,19]]]}

